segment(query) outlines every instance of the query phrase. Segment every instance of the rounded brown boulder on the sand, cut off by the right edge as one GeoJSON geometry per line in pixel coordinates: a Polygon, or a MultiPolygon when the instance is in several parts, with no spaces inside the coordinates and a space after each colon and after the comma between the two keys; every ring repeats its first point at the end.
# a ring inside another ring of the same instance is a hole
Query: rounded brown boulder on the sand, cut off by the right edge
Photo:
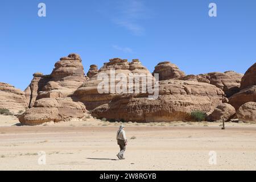
{"type": "Polygon", "coordinates": [[[256,102],[247,102],[237,110],[237,118],[243,122],[256,123],[256,102]]]}

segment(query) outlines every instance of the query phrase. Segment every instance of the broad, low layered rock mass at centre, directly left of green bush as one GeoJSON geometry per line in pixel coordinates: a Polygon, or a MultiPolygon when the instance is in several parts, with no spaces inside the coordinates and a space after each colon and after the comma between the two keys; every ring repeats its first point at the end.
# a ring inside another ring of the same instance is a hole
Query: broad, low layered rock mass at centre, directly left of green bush
{"type": "Polygon", "coordinates": [[[147,94],[122,94],[92,110],[97,118],[136,122],[189,121],[193,110],[210,113],[221,104],[224,92],[214,85],[195,81],[159,82],[159,97],[147,94]]]}

